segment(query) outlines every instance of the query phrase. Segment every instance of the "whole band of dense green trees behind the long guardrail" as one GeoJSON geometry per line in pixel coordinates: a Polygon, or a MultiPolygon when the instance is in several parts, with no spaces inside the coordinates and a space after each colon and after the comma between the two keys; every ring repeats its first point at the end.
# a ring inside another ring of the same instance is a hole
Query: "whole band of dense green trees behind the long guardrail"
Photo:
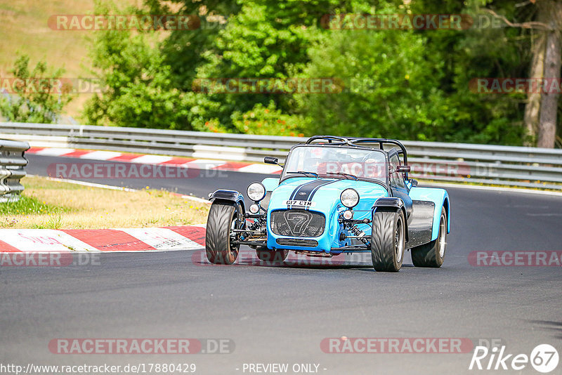
{"type": "MultiPolygon", "coordinates": [[[[483,94],[476,77],[527,77],[532,30],[330,29],[326,15],[471,14],[531,20],[532,2],[446,0],[145,0],[138,13],[197,15],[200,27],[98,32],[93,65],[107,91],[84,115],[112,124],[254,134],[384,136],[519,145],[522,93],[483,94]],[[301,81],[328,93],[204,91],[202,79],[301,81]]],[[[103,14],[115,5],[98,4],[103,14]]],[[[113,11],[116,8],[112,9],[113,11]]],[[[129,10],[130,11],[130,10],[129,10]]]]}

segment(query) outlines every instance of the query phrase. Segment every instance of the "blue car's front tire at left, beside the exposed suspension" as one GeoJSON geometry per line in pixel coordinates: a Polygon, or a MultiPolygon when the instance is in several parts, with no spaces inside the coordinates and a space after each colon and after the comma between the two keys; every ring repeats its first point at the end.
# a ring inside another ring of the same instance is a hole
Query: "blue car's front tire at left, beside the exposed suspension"
{"type": "Polygon", "coordinates": [[[230,228],[242,228],[240,218],[242,208],[238,204],[214,202],[209,209],[205,251],[207,259],[213,264],[233,264],[238,256],[240,245],[231,244],[238,236],[230,236],[230,228]]]}

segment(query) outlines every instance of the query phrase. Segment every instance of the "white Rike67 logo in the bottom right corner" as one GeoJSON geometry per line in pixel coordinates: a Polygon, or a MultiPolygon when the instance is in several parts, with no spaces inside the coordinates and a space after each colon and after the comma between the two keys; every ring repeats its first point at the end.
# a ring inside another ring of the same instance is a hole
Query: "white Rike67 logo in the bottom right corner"
{"type": "Polygon", "coordinates": [[[558,366],[558,351],[549,344],[536,346],[530,355],[514,355],[506,353],[506,347],[476,346],[470,361],[469,370],[516,370],[521,371],[528,364],[543,374],[547,374],[558,366]]]}

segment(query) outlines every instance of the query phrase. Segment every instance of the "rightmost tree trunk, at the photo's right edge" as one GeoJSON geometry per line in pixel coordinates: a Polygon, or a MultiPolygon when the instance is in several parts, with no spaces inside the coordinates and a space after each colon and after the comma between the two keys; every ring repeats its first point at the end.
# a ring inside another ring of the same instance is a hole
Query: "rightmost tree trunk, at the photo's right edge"
{"type": "MultiPolygon", "coordinates": [[[[537,147],[554,148],[556,140],[556,112],[558,111],[558,89],[552,89],[552,80],[560,82],[561,68],[561,36],[558,25],[559,16],[562,15],[561,1],[545,1],[549,8],[549,21],[547,25],[553,28],[547,34],[547,49],[544,53],[544,78],[548,81],[547,90],[542,93],[540,102],[540,121],[538,129],[537,147]]],[[[545,4],[543,4],[544,6],[545,4]]],[[[556,88],[556,86],[554,86],[556,88]]]]}

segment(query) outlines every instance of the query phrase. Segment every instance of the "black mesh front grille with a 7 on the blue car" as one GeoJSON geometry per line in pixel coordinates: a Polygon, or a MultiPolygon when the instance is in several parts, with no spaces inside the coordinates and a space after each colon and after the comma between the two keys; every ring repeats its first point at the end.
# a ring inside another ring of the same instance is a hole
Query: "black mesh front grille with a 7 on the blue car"
{"type": "Polygon", "coordinates": [[[318,237],[324,233],[326,217],[303,209],[277,210],[271,213],[270,225],[275,235],[318,237]]]}

